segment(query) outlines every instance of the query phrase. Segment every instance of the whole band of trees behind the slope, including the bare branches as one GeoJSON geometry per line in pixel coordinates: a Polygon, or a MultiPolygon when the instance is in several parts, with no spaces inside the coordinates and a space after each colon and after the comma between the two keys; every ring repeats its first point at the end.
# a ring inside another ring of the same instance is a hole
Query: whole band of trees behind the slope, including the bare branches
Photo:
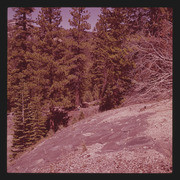
{"type": "Polygon", "coordinates": [[[126,97],[172,96],[172,8],[101,8],[93,31],[85,7],[13,8],[8,23],[7,111],[14,113],[12,157],[68,126],[68,112],[90,102],[99,111],[126,97]],[[55,126],[56,124],[56,126],[55,126]]]}

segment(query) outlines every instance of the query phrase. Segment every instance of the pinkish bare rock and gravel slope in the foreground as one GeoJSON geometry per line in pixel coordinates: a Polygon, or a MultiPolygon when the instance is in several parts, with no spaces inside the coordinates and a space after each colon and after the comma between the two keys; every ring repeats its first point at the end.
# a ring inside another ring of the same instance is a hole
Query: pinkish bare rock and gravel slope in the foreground
{"type": "Polygon", "coordinates": [[[172,173],[172,99],[101,113],[90,108],[8,163],[7,172],[172,173]]]}

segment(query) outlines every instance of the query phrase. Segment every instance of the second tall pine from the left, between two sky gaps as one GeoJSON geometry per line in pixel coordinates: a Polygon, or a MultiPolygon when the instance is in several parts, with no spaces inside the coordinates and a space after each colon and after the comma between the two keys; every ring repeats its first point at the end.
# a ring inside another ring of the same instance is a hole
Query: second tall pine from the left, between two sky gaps
{"type": "MultiPolygon", "coordinates": [[[[62,57],[62,45],[58,41],[61,36],[59,25],[62,21],[60,8],[41,8],[37,25],[33,30],[32,53],[28,53],[29,91],[33,123],[27,122],[29,145],[36,142],[48,132],[47,117],[43,108],[47,104],[54,105],[60,99],[58,89],[58,70],[62,57]],[[32,141],[34,140],[34,141],[32,141]]],[[[47,106],[48,107],[48,106],[47,106]]]]}

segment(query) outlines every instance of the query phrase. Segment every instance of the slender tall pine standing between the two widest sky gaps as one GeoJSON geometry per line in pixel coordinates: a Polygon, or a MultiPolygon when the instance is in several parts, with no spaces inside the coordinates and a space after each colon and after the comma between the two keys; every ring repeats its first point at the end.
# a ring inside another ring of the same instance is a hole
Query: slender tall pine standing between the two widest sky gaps
{"type": "Polygon", "coordinates": [[[67,88],[70,92],[70,101],[73,106],[79,106],[82,103],[85,82],[85,63],[87,56],[85,49],[87,42],[87,30],[90,29],[90,24],[87,23],[89,13],[85,8],[72,8],[70,12],[72,20],[69,20],[71,39],[68,41],[69,53],[65,56],[66,63],[69,65],[67,76],[67,88]]]}

